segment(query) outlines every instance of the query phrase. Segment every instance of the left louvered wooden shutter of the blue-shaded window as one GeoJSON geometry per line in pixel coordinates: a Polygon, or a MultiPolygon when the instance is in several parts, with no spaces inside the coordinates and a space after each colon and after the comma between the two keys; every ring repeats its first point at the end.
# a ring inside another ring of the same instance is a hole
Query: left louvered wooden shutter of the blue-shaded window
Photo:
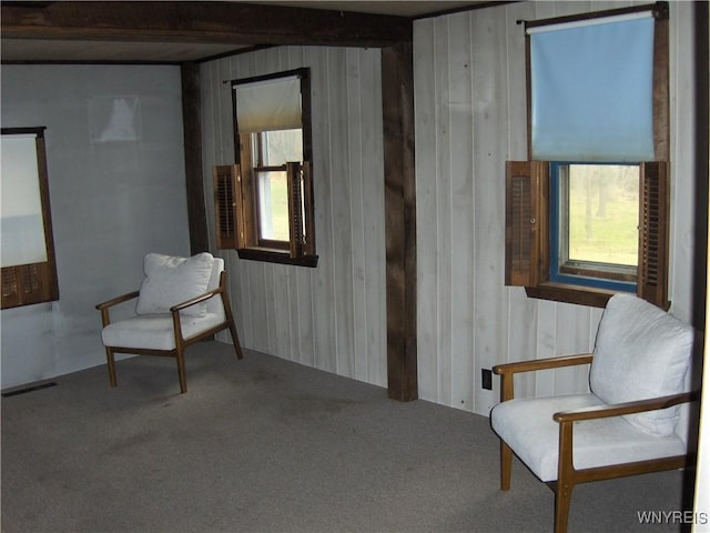
{"type": "Polygon", "coordinates": [[[544,161],[506,162],[506,285],[536,286],[546,272],[544,161]]]}

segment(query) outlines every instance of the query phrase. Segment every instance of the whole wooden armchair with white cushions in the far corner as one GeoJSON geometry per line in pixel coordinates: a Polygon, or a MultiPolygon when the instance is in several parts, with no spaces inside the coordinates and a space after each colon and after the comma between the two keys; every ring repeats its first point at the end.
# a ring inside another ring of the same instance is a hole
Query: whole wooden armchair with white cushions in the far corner
{"type": "Polygon", "coordinates": [[[111,386],[116,386],[113,354],[134,353],[175,358],[180,392],[187,392],[185,349],[224,329],[230,330],[236,358],[242,359],[223,259],[209,253],[192,258],[149,253],[144,270],[140,291],[97,305],[111,386]],[[133,299],[138,299],[136,314],[111,322],[109,310],[133,299]]]}

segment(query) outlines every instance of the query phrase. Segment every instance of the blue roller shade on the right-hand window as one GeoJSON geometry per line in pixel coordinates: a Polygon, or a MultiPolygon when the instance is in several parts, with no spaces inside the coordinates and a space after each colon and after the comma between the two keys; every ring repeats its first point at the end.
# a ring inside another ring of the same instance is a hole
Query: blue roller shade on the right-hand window
{"type": "Polygon", "coordinates": [[[532,159],[655,159],[653,22],[642,12],[528,29],[532,159]]]}

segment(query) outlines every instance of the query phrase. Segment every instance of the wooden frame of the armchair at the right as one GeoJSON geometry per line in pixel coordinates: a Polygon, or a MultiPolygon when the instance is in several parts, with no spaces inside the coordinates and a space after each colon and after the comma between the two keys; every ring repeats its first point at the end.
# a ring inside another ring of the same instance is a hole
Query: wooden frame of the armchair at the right
{"type": "MultiPolygon", "coordinates": [[[[519,361],[498,364],[493,368],[494,373],[500,375],[500,401],[513,400],[514,376],[520,372],[530,372],[548,369],[560,369],[579,364],[590,364],[594,354],[580,353],[577,355],[564,355],[558,358],[519,361]]],[[[611,464],[592,469],[575,469],[572,462],[572,436],[575,422],[604,419],[608,416],[621,416],[625,414],[640,413],[670,408],[681,403],[691,402],[699,398],[697,392],[671,394],[668,396],[641,400],[636,402],[618,403],[613,405],[599,405],[555,413],[552,419],[559,423],[559,449],[557,481],[547,485],[555,493],[555,533],[565,533],[569,517],[569,504],[572,489],[578,483],[600,481],[628,475],[661,472],[665,470],[683,469],[694,464],[691,454],[674,455],[669,457],[637,461],[632,463],[611,464]]],[[[510,471],[513,465],[513,450],[500,440],[500,490],[510,489],[510,471]]]]}

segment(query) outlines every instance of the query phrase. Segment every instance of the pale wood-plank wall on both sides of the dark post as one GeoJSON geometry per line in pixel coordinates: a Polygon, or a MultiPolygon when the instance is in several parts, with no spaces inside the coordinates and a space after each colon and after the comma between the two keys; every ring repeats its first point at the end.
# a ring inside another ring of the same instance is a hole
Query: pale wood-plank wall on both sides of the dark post
{"type": "MultiPolygon", "coordinates": [[[[629,3],[629,2],[627,2],[629,3]]],[[[638,2],[633,2],[638,3],[638,2]]],[[[527,155],[518,19],[621,7],[516,2],[414,23],[417,372],[423,400],[487,415],[480,370],[592,349],[601,310],[504,285],[505,161],[527,155]]],[[[671,312],[693,295],[692,4],[670,6],[671,312]]],[[[227,260],[245,348],[387,385],[381,51],[281,47],[201,67],[204,174],[234,162],[225,80],[312,69],[316,269],[227,260]]],[[[205,180],[205,198],[212,198],[205,180]]],[[[210,239],[214,212],[207,200],[210,239]]],[[[224,338],[226,340],[226,336],[224,338]]],[[[519,394],[584,391],[585,369],[521,375],[519,394]]]]}

